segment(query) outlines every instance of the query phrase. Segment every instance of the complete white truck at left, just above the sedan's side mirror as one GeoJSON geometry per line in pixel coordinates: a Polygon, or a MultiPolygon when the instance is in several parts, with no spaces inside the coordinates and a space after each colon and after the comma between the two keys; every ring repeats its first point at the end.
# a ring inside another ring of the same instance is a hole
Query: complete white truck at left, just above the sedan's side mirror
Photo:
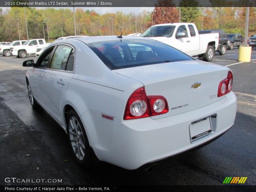
{"type": "Polygon", "coordinates": [[[23,45],[11,47],[10,49],[13,56],[25,58],[27,55],[36,54],[37,48],[45,47],[48,44],[49,43],[46,43],[44,39],[31,39],[23,45]]]}

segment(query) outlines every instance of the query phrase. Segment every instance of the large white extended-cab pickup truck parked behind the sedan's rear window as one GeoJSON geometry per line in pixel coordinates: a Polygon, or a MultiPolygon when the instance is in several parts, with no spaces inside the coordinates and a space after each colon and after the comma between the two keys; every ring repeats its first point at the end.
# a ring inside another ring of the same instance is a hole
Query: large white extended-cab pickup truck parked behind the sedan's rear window
{"type": "Polygon", "coordinates": [[[190,56],[211,61],[219,45],[219,34],[198,34],[194,23],[166,23],[148,28],[142,37],[168,44],[190,56]]]}

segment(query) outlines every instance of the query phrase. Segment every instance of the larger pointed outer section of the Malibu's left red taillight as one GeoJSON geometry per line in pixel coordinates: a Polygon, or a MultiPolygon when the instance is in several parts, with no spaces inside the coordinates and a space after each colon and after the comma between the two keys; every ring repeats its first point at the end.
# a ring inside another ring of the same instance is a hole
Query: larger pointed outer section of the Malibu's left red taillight
{"type": "Polygon", "coordinates": [[[137,89],[135,92],[133,92],[130,98],[128,99],[124,113],[124,120],[148,116],[150,116],[148,108],[148,99],[145,92],[145,88],[141,87],[137,89]]]}

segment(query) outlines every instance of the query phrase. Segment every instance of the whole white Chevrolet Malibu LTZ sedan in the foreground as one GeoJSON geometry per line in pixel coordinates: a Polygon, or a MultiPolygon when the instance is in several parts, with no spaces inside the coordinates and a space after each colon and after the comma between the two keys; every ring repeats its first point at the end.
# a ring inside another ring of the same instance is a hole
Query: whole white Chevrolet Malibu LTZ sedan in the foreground
{"type": "Polygon", "coordinates": [[[67,132],[77,162],[137,169],[228,131],[236,96],[229,68],[152,39],[77,37],[23,62],[33,108],[67,132]],[[92,148],[93,150],[90,150],[92,148]]]}

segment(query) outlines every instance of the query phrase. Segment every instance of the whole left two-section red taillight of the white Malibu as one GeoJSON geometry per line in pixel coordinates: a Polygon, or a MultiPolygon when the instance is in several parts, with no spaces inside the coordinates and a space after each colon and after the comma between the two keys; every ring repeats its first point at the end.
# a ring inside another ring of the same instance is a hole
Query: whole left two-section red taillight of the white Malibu
{"type": "Polygon", "coordinates": [[[147,96],[145,88],[141,87],[128,99],[124,120],[160,115],[168,111],[168,104],[163,96],[147,96]]]}

